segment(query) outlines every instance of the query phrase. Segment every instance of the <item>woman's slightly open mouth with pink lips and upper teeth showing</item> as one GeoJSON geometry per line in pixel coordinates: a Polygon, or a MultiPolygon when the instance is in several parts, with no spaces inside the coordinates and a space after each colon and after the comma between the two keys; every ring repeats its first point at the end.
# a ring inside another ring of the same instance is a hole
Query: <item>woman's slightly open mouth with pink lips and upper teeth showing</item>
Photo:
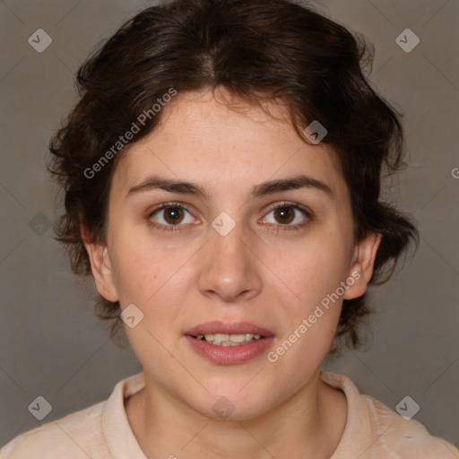
{"type": "Polygon", "coordinates": [[[192,348],[218,364],[242,363],[269,347],[274,333],[248,322],[207,322],[184,333],[192,348]]]}

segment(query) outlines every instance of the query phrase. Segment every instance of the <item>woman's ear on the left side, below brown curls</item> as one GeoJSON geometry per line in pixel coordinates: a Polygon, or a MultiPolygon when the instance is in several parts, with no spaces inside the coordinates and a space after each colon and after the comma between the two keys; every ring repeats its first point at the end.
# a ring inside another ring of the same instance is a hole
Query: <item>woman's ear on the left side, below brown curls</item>
{"type": "Polygon", "coordinates": [[[91,271],[96,288],[100,295],[108,301],[118,300],[117,289],[113,281],[111,262],[108,256],[107,246],[101,242],[91,242],[89,233],[83,224],[80,225],[84,247],[90,257],[91,271]]]}

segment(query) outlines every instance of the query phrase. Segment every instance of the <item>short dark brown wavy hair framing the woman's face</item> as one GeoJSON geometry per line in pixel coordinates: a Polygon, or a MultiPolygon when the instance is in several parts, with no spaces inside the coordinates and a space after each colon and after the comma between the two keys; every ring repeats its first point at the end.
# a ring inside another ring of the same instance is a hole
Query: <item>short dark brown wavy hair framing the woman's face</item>
{"type": "MultiPolygon", "coordinates": [[[[80,225],[91,241],[106,240],[110,181],[126,147],[109,155],[114,158],[94,177],[88,178],[88,170],[170,88],[224,88],[252,104],[281,101],[300,136],[313,120],[326,126],[322,143],[333,147],[349,187],[355,241],[369,233],[382,236],[370,283],[387,281],[410,243],[418,245],[419,234],[381,196],[382,180],[405,166],[404,134],[402,115],[362,73],[373,56],[362,35],[306,3],[175,0],[137,13],[82,63],[78,101],[49,143],[48,170],[65,192],[56,240],[74,273],[91,274],[80,225]]],[[[152,132],[161,112],[143,118],[127,144],[152,132]]],[[[335,338],[349,348],[362,342],[359,324],[372,312],[367,303],[366,294],[343,300],[335,338]]],[[[113,337],[123,326],[119,302],[100,296],[95,309],[111,322],[113,337]]]]}

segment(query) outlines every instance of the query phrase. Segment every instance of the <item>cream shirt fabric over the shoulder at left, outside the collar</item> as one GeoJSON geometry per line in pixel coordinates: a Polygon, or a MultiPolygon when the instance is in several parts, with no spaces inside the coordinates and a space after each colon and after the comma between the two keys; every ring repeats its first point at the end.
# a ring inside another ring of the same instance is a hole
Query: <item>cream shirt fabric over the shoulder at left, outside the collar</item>
{"type": "Polygon", "coordinates": [[[101,413],[105,403],[75,411],[14,437],[0,449],[0,459],[99,457],[96,451],[102,438],[101,413]]]}

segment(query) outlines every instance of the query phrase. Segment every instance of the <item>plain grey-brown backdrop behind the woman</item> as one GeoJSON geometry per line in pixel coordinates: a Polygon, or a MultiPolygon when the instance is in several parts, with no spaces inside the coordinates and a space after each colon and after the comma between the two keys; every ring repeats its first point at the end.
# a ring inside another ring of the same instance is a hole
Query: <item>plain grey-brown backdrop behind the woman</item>
{"type": "MultiPolygon", "coordinates": [[[[82,0],[0,2],[2,153],[0,205],[0,445],[99,403],[141,370],[93,316],[95,290],[81,282],[52,238],[61,213],[45,167],[48,140],[75,100],[74,72],[89,51],[151,2],[82,0]],[[37,29],[53,39],[43,53],[28,43],[37,29]],[[41,215],[42,214],[42,215],[41,215]],[[45,420],[28,411],[42,395],[45,420]]],[[[405,395],[414,419],[459,444],[458,0],[333,0],[318,4],[333,20],[375,44],[374,87],[404,113],[409,169],[392,196],[420,225],[420,248],[385,286],[371,289],[377,315],[364,351],[325,369],[351,377],[393,410],[405,395]],[[420,38],[410,53],[395,39],[420,38]],[[458,174],[456,174],[457,177],[458,174]]]]}

